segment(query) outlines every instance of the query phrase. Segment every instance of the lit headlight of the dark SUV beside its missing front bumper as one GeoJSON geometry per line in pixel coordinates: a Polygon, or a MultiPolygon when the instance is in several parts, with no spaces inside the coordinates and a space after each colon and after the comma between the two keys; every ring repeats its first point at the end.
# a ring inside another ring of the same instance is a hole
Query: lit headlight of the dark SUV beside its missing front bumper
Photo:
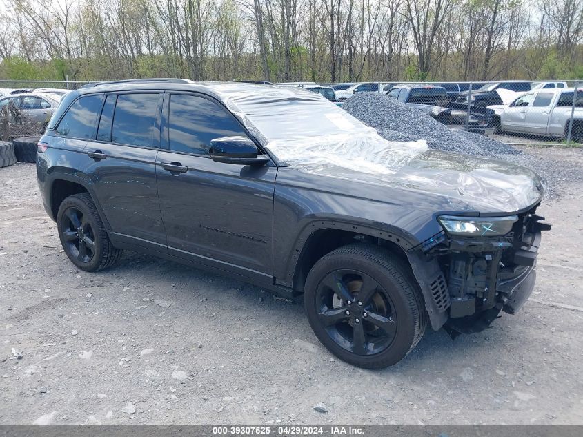
{"type": "Polygon", "coordinates": [[[457,217],[442,215],[437,217],[439,223],[450,235],[464,237],[497,237],[511,231],[512,225],[518,220],[516,215],[508,217],[457,217]]]}

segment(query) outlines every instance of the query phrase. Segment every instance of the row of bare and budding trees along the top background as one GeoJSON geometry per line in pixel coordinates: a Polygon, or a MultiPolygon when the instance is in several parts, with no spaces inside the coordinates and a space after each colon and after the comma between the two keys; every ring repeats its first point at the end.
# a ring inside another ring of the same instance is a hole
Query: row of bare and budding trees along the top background
{"type": "Polygon", "coordinates": [[[5,0],[1,79],[583,78],[583,0],[5,0]]]}

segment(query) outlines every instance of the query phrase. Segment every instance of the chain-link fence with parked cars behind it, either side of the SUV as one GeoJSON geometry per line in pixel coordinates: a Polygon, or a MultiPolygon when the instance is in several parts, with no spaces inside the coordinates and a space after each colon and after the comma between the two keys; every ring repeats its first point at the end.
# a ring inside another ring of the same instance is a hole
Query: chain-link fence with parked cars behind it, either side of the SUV
{"type": "MultiPolygon", "coordinates": [[[[36,135],[46,126],[62,95],[88,83],[0,80],[0,137],[36,135]]],[[[452,129],[481,133],[506,144],[583,143],[583,81],[279,85],[308,88],[338,104],[354,93],[383,93],[419,108],[452,129]]]]}

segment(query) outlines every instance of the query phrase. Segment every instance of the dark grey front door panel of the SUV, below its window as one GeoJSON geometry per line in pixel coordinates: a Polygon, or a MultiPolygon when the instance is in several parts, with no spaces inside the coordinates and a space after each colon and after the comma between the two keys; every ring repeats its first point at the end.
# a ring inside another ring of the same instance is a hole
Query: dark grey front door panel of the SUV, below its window
{"type": "Polygon", "coordinates": [[[276,173],[270,166],[223,164],[160,150],[158,193],[169,253],[270,275],[276,173]],[[161,164],[188,170],[165,170],[161,164]]]}

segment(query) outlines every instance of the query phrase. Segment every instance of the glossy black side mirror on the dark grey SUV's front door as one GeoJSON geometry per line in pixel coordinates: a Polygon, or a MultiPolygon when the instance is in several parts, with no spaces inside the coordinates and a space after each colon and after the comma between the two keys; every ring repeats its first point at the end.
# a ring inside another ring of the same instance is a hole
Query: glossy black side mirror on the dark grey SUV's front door
{"type": "Polygon", "coordinates": [[[268,157],[258,156],[255,143],[247,137],[221,137],[210,140],[210,159],[225,164],[265,164],[268,157]]]}

